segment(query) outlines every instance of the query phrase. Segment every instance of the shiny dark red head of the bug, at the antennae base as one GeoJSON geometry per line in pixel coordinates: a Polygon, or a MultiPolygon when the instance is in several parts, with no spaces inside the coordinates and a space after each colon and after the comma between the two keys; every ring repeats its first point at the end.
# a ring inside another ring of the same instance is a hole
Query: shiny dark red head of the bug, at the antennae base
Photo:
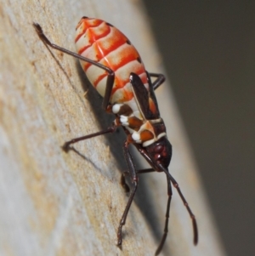
{"type": "Polygon", "coordinates": [[[146,146],[146,151],[164,168],[168,168],[168,165],[172,157],[172,145],[166,137],[162,137],[155,143],[146,146]]]}

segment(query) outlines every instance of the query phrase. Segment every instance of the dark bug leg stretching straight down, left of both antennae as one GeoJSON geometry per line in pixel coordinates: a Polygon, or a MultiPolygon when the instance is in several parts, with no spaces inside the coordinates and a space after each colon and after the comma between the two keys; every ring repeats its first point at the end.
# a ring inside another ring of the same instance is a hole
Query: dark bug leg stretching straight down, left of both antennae
{"type": "Polygon", "coordinates": [[[127,206],[124,210],[124,213],[122,214],[122,219],[120,221],[120,225],[119,225],[119,228],[118,228],[118,232],[117,232],[117,245],[118,246],[122,245],[122,226],[125,225],[125,223],[126,223],[127,213],[128,213],[129,208],[131,206],[131,203],[133,202],[133,197],[135,195],[135,192],[136,192],[137,186],[138,186],[138,175],[136,173],[136,170],[135,170],[135,167],[134,167],[134,164],[133,164],[132,156],[131,156],[130,152],[128,151],[128,142],[127,142],[127,140],[125,141],[125,143],[123,145],[123,150],[124,150],[125,160],[127,162],[129,176],[132,179],[133,190],[131,191],[131,194],[128,198],[127,206]]]}

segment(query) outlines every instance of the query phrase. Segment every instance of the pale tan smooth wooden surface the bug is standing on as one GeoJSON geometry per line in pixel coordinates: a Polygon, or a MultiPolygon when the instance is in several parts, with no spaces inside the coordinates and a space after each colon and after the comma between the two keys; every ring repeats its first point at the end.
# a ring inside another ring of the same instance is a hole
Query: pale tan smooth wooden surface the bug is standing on
{"type": "MultiPolygon", "coordinates": [[[[107,20],[139,49],[148,71],[162,71],[141,3],[0,3],[0,254],[153,255],[167,203],[164,174],[140,178],[120,250],[116,229],[127,202],[119,185],[126,168],[124,136],[89,139],[68,154],[61,150],[65,140],[107,128],[112,117],[102,111],[102,101],[77,60],[46,48],[32,27],[38,22],[54,43],[74,50],[74,29],[83,15],[107,20]]],[[[194,247],[190,218],[173,191],[170,231],[161,255],[224,255],[167,83],[156,94],[173,144],[169,170],[200,233],[194,247]]]]}

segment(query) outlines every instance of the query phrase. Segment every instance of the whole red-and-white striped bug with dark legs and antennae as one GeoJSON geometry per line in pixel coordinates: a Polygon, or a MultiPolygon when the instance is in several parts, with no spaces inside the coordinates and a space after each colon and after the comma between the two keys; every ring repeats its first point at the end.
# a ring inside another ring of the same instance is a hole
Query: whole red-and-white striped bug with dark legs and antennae
{"type": "Polygon", "coordinates": [[[138,175],[154,171],[163,172],[167,175],[168,194],[164,233],[155,254],[158,255],[161,252],[167,238],[172,198],[171,183],[177,189],[184,206],[190,214],[194,243],[197,244],[198,230],[195,215],[191,212],[178,183],[168,172],[172,157],[172,145],[167,139],[166,127],[160,117],[154,94],[156,88],[165,81],[165,77],[161,74],[148,73],[139,53],[127,37],[115,26],[104,20],[82,17],[77,25],[75,38],[77,54],[50,43],[41,26],[36,23],[33,26],[43,43],[81,61],[82,68],[86,72],[89,81],[103,97],[103,109],[116,116],[115,122],[110,128],[65,142],[63,145],[64,151],[68,151],[71,144],[80,140],[114,133],[119,126],[122,126],[127,134],[123,151],[128,171],[122,174],[122,185],[128,190],[125,176],[129,176],[133,183],[133,190],[130,192],[127,206],[117,230],[117,245],[122,245],[122,226],[125,225],[128,210],[138,187],[138,175]],[[151,82],[150,77],[156,77],[155,81],[151,82]],[[145,160],[149,162],[151,168],[135,169],[132,156],[128,151],[129,144],[133,144],[137,148],[145,160]]]}

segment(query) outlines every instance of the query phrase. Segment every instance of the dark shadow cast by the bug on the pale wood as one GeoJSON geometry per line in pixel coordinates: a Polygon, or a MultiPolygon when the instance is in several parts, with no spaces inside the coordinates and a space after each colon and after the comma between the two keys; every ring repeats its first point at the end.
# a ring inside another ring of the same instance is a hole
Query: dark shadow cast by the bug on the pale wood
{"type": "MultiPolygon", "coordinates": [[[[94,89],[94,87],[88,81],[88,78],[84,73],[84,71],[82,70],[82,66],[78,61],[76,62],[76,66],[78,71],[78,77],[82,85],[82,89],[84,92],[87,92],[86,100],[88,100],[89,104],[91,105],[91,109],[94,112],[94,116],[97,117],[97,120],[99,123],[99,131],[104,130],[105,128],[108,128],[111,126],[111,123],[114,120],[114,116],[105,113],[105,111],[103,110],[102,97],[99,95],[99,93],[94,89]]],[[[114,134],[106,134],[105,139],[107,141],[107,145],[109,145],[110,147],[112,156],[116,159],[116,162],[117,162],[116,169],[120,170],[120,172],[126,171],[127,164],[125,162],[125,158],[123,156],[123,150],[122,150],[122,144],[123,144],[123,141],[126,139],[126,134],[123,132],[122,128],[120,127],[116,130],[114,134]]],[[[83,143],[86,143],[86,142],[83,142],[83,143]]],[[[81,156],[86,161],[91,162],[96,168],[96,164],[93,161],[89,160],[89,156],[84,156],[81,152],[77,151],[74,147],[71,147],[71,151],[74,151],[75,153],[77,153],[77,155],[81,156]]],[[[139,155],[139,152],[133,151],[133,150],[131,151],[132,151],[133,160],[137,165],[138,157],[136,155],[139,155]]],[[[117,172],[116,172],[116,175],[118,175],[117,172]]],[[[147,222],[147,225],[150,226],[151,233],[153,234],[153,236],[155,236],[156,242],[160,242],[161,235],[163,232],[163,223],[164,223],[163,221],[165,216],[164,215],[160,216],[157,213],[156,206],[153,203],[153,201],[151,201],[151,198],[153,198],[152,196],[153,191],[150,190],[148,175],[149,174],[139,175],[138,191],[134,197],[133,202],[139,207],[139,210],[143,213],[144,220],[147,222]]],[[[121,175],[120,175],[120,178],[121,178],[121,175]]],[[[127,177],[127,184],[130,185],[130,181],[128,177],[127,177]]],[[[123,193],[125,193],[124,189],[123,189],[123,193]]],[[[167,186],[166,186],[166,203],[167,203],[167,186]]],[[[165,211],[165,209],[163,209],[163,211],[165,211]]],[[[128,214],[129,218],[127,217],[129,221],[130,219],[133,219],[132,214],[130,213],[128,214]]],[[[119,218],[121,219],[121,216],[119,216],[119,218]]],[[[127,235],[127,231],[123,230],[123,237],[125,235],[127,235]]],[[[171,252],[167,244],[165,245],[164,250],[166,250],[167,252],[171,252]]]]}

